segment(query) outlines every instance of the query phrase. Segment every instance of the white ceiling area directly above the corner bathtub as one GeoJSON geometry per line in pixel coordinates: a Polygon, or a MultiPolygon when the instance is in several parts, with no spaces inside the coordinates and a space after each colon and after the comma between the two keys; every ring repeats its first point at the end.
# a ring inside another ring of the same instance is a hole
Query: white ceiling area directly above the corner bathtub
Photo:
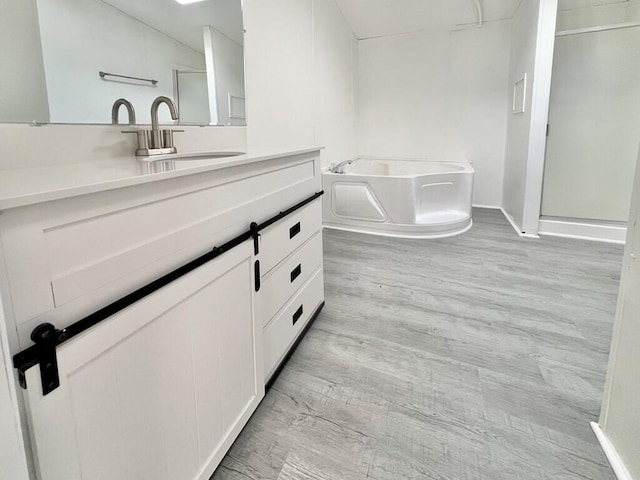
{"type": "MultiPolygon", "coordinates": [[[[481,0],[485,21],[513,17],[522,0],[481,0]]],[[[526,1],[526,0],[525,0],[526,1]]],[[[592,0],[596,1],[596,0],[592,0]]],[[[476,23],[474,0],[337,0],[358,39],[476,23]]]]}

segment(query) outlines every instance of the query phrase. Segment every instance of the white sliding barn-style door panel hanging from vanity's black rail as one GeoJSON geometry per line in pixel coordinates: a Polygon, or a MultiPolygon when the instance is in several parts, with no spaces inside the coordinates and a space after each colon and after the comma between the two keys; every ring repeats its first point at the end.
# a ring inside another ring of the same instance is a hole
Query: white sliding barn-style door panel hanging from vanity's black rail
{"type": "Polygon", "coordinates": [[[58,349],[26,390],[41,480],[205,480],[264,396],[250,242],[58,349]]]}

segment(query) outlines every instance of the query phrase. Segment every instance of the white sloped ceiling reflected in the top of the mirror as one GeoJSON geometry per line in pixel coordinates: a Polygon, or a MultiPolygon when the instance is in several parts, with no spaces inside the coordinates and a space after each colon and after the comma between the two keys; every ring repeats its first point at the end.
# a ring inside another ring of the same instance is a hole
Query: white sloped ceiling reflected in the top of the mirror
{"type": "Polygon", "coordinates": [[[100,0],[204,53],[202,26],[211,25],[242,45],[241,0],[206,0],[180,5],[175,0],[100,0]]]}

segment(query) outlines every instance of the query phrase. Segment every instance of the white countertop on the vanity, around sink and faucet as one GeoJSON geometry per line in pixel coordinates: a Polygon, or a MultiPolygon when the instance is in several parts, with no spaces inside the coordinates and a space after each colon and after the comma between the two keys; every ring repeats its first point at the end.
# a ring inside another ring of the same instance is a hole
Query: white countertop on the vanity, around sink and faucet
{"type": "Polygon", "coordinates": [[[133,158],[0,170],[0,210],[311,153],[321,149],[322,147],[242,149],[247,153],[216,159],[180,160],[176,162],[176,170],[154,174],[143,174],[140,163],[133,158]]]}

